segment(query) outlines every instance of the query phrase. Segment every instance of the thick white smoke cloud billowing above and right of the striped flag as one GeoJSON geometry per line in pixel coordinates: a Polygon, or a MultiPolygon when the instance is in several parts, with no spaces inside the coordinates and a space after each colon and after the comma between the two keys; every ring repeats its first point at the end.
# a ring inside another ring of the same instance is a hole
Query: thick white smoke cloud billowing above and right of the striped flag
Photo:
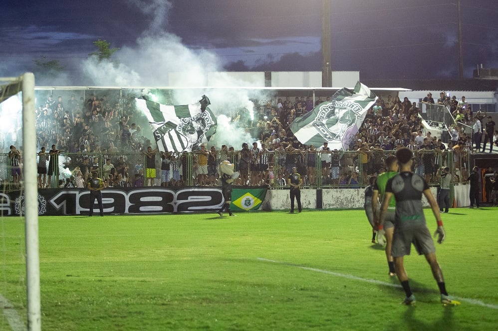
{"type": "Polygon", "coordinates": [[[237,150],[241,149],[243,142],[251,143],[254,139],[250,133],[231,119],[241,109],[247,109],[250,118],[253,118],[253,103],[250,100],[263,97],[251,95],[249,98],[249,90],[245,89],[203,88],[208,86],[208,82],[210,86],[217,87],[248,87],[251,83],[220,73],[222,66],[214,53],[190,49],[180,37],[167,31],[171,2],[140,0],[130,3],[151,16],[150,26],[136,40],[135,46],[123,46],[116,51],[113,61],[99,62],[95,57],[85,60],[83,72],[91,84],[138,88],[183,87],[174,90],[169,100],[174,105],[192,104],[202,95],[207,95],[211,101],[209,108],[218,118],[217,133],[208,146],[215,145],[219,149],[222,144],[227,144],[237,150]],[[214,72],[217,74],[208,77],[209,73],[214,72]]]}

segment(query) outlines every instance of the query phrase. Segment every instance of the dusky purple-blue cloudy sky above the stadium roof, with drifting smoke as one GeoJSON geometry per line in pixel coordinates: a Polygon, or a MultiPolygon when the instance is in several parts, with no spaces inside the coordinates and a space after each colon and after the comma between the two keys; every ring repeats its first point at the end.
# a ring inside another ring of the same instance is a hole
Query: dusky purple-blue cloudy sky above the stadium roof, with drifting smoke
{"type": "MultiPolygon", "coordinates": [[[[333,0],[331,63],[360,78],[458,78],[457,1],[333,0]]],[[[3,1],[0,76],[56,60],[58,85],[158,84],[158,74],[321,71],[321,0],[3,1]],[[89,63],[93,41],[118,47],[89,63]],[[194,68],[194,69],[192,69],[194,68]],[[99,73],[105,72],[104,76],[99,73]],[[117,76],[124,73],[119,79],[117,76]]],[[[464,77],[498,67],[498,1],[462,0],[464,77]]]]}

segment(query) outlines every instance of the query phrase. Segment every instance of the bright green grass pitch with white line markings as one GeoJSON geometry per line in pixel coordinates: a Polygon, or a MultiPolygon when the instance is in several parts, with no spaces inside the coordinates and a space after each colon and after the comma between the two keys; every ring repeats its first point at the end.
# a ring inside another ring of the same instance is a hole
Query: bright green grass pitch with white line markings
{"type": "MultiPolygon", "coordinates": [[[[443,215],[452,308],[413,252],[418,301],[400,305],[360,210],[40,217],[42,330],[497,330],[497,212],[443,215]]],[[[3,218],[2,234],[1,295],[25,323],[23,221],[3,218]]]]}

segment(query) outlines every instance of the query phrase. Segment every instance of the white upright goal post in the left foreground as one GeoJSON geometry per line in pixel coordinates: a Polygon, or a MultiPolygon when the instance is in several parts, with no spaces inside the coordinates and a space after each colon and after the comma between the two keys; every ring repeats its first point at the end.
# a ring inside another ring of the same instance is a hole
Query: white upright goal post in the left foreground
{"type": "Polygon", "coordinates": [[[34,75],[22,75],[22,144],[24,216],[26,237],[26,294],[28,331],[41,331],[40,257],[38,240],[38,186],[36,178],[36,126],[34,75]]]}

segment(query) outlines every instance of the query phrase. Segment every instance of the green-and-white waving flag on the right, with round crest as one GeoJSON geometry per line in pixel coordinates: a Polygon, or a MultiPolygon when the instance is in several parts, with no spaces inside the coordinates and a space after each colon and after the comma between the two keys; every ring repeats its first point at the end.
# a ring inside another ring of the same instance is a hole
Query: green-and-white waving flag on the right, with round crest
{"type": "Polygon", "coordinates": [[[377,96],[358,82],[354,90],[343,88],[329,102],[296,118],[290,129],[304,145],[319,147],[327,141],[331,149],[346,150],[375,100],[377,96]]]}

